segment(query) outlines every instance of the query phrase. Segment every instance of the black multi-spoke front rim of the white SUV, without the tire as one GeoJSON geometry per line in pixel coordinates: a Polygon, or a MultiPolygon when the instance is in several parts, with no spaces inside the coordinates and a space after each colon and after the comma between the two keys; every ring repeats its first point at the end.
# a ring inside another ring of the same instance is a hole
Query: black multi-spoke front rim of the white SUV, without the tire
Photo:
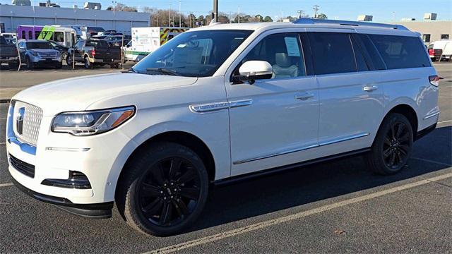
{"type": "Polygon", "coordinates": [[[201,176],[191,162],[170,157],[153,165],[137,185],[136,202],[145,219],[157,226],[175,226],[198,204],[201,176]]]}

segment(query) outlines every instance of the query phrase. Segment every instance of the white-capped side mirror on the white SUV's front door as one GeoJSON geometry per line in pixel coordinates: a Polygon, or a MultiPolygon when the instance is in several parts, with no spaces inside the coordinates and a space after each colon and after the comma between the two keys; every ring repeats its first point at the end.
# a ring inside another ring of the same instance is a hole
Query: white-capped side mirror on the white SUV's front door
{"type": "Polygon", "coordinates": [[[240,66],[239,73],[240,75],[234,78],[238,78],[240,81],[247,81],[252,85],[256,80],[271,78],[273,67],[268,61],[246,61],[240,66]]]}

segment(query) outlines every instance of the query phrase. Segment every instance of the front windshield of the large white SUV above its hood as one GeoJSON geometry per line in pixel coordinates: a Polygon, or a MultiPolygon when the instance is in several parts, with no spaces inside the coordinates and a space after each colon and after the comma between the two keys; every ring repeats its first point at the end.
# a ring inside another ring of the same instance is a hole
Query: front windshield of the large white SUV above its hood
{"type": "Polygon", "coordinates": [[[232,52],[251,35],[249,30],[206,30],[184,32],[133,66],[143,74],[189,77],[213,75],[232,52]],[[164,70],[164,71],[162,71],[164,70]]]}

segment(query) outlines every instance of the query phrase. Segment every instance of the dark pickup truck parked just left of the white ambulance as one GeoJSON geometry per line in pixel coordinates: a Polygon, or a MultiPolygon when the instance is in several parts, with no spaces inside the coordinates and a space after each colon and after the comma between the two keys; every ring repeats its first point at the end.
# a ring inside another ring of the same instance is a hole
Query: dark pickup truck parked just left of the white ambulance
{"type": "Polygon", "coordinates": [[[111,47],[106,40],[80,40],[73,49],[69,49],[66,63],[72,66],[72,60],[83,63],[85,68],[94,68],[95,65],[118,68],[121,63],[121,48],[111,47]]]}

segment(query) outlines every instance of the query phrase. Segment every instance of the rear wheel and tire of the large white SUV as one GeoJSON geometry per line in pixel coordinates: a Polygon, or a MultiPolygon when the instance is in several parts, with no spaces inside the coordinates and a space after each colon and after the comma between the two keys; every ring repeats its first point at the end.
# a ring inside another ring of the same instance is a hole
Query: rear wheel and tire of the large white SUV
{"type": "Polygon", "coordinates": [[[381,123],[366,161],[371,171],[381,175],[400,172],[412,155],[413,131],[403,114],[389,114],[381,123]]]}

